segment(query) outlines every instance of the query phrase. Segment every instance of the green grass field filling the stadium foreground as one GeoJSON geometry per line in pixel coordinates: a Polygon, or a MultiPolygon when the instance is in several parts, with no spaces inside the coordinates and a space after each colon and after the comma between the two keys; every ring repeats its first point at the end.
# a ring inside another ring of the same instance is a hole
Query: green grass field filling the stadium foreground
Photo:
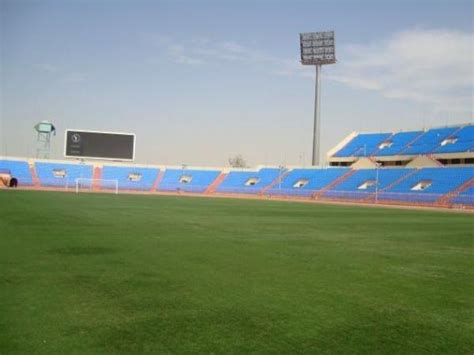
{"type": "Polygon", "coordinates": [[[474,351],[473,216],[0,191],[0,353],[474,351]]]}

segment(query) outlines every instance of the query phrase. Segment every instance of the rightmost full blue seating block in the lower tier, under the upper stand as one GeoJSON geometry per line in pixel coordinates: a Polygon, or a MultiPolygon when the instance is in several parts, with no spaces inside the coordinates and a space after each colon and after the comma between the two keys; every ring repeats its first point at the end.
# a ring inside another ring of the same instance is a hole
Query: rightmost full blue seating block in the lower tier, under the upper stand
{"type": "Polygon", "coordinates": [[[423,168],[379,195],[380,199],[434,202],[474,177],[473,167],[423,168]],[[427,187],[422,188],[422,185],[427,187]]]}

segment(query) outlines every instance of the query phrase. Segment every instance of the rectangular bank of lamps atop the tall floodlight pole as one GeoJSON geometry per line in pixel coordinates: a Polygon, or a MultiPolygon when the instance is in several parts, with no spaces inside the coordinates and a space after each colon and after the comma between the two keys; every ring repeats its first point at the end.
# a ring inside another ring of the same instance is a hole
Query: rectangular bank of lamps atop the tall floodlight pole
{"type": "Polygon", "coordinates": [[[304,65],[336,62],[334,31],[300,34],[301,63],[304,65]]]}

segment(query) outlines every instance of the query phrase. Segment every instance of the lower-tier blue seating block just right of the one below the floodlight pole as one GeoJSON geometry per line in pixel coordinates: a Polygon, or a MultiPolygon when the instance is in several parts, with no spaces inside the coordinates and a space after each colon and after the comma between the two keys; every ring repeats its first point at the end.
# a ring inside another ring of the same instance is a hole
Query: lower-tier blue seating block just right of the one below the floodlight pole
{"type": "Polygon", "coordinates": [[[411,172],[413,172],[413,169],[406,168],[356,170],[355,173],[346,180],[325,192],[324,196],[364,199],[373,195],[376,191],[376,186],[377,190],[381,191],[411,172]]]}

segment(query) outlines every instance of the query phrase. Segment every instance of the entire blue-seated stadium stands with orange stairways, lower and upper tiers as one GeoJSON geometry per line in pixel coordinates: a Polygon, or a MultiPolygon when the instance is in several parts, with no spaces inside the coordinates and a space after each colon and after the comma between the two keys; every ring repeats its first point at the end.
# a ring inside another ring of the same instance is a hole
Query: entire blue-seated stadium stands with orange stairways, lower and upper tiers
{"type": "MultiPolygon", "coordinates": [[[[77,134],[77,133],[76,133],[77,134]]],[[[353,132],[329,167],[200,168],[3,158],[24,189],[177,193],[474,208],[474,126],[353,132]]],[[[87,149],[87,148],[85,148],[87,149]]],[[[4,185],[9,186],[9,179],[4,185]]]]}

